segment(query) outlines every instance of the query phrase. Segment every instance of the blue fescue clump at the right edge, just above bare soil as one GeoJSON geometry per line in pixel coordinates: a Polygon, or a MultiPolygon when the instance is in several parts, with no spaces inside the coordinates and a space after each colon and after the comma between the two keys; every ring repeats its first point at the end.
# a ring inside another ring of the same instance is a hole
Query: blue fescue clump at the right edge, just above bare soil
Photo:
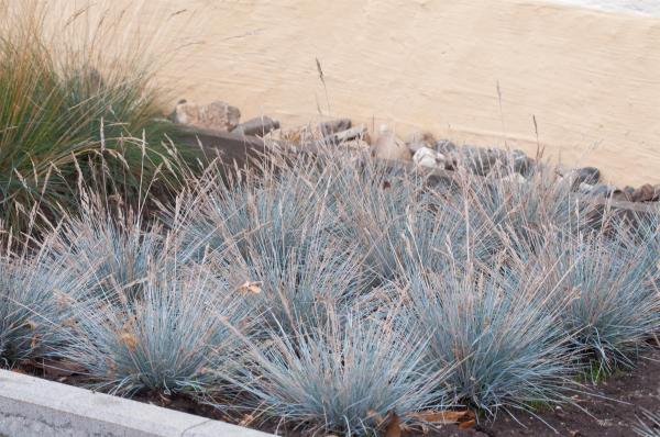
{"type": "Polygon", "coordinates": [[[556,237],[544,251],[568,302],[560,320],[575,347],[604,371],[634,366],[660,328],[659,277],[649,254],[602,234],[556,237]]]}

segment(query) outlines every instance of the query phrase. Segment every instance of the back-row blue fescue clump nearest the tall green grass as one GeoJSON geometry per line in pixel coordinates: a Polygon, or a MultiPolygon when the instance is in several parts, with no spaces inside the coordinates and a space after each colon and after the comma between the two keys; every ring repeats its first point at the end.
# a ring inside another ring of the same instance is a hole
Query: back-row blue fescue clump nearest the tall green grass
{"type": "Polygon", "coordinates": [[[210,171],[196,189],[182,195],[165,221],[182,234],[189,250],[235,249],[250,262],[250,246],[271,244],[284,250],[300,244],[300,229],[322,220],[323,188],[308,178],[307,166],[277,171],[265,166],[257,175],[244,175],[227,184],[210,171]]]}

